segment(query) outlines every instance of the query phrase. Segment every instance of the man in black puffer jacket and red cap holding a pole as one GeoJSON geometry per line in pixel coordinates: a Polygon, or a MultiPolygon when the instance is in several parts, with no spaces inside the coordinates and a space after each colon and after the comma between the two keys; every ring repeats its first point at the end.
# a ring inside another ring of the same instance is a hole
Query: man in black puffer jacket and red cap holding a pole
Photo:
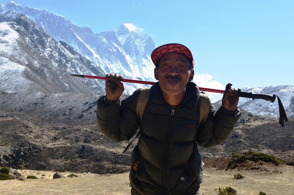
{"type": "Polygon", "coordinates": [[[216,146],[230,135],[240,117],[240,89],[228,84],[222,106],[210,103],[208,117],[199,124],[199,88],[193,82],[194,60],[181,44],[156,48],[151,59],[156,82],[140,122],[136,104],[140,90],[120,101],[122,75],[106,75],[106,96],[97,104],[97,121],[113,141],[130,140],[140,125],[141,135],[131,155],[131,194],[201,194],[203,163],[197,144],[216,146]]]}

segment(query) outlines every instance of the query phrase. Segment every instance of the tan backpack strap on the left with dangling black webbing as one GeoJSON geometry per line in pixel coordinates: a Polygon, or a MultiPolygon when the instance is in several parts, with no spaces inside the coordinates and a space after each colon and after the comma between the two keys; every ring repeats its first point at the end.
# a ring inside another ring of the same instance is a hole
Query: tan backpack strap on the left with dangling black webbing
{"type": "Polygon", "coordinates": [[[137,133],[136,137],[128,144],[128,146],[125,148],[123,153],[127,151],[127,149],[131,146],[133,141],[141,134],[141,121],[142,121],[144,110],[149,100],[149,90],[150,90],[150,87],[147,87],[147,88],[142,88],[141,91],[139,92],[139,97],[138,97],[137,105],[136,105],[137,117],[140,120],[139,132],[137,133]]]}

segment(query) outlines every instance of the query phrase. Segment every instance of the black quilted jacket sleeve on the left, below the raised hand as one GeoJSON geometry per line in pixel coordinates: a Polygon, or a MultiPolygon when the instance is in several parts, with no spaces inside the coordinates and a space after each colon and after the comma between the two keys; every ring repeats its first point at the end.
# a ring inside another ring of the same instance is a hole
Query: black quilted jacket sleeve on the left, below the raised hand
{"type": "Polygon", "coordinates": [[[138,92],[116,102],[104,101],[101,96],[97,103],[97,122],[101,132],[112,141],[130,140],[139,127],[136,115],[138,92]]]}

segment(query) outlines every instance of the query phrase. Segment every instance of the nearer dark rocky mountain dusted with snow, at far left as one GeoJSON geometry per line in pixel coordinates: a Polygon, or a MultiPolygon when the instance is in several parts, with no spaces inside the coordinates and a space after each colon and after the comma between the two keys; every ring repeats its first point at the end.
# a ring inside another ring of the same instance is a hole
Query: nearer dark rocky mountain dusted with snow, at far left
{"type": "Polygon", "coordinates": [[[104,93],[104,82],[81,80],[71,72],[104,72],[65,42],[58,42],[28,17],[0,15],[0,90],[49,93],[104,93]]]}

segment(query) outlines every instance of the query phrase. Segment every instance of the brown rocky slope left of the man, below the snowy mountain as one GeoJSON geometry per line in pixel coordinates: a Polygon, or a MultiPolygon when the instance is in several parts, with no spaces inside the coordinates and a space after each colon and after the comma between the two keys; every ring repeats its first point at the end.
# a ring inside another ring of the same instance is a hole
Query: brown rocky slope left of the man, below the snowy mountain
{"type": "Polygon", "coordinates": [[[125,172],[130,151],[96,122],[96,95],[1,93],[0,166],[93,173],[125,172]]]}

